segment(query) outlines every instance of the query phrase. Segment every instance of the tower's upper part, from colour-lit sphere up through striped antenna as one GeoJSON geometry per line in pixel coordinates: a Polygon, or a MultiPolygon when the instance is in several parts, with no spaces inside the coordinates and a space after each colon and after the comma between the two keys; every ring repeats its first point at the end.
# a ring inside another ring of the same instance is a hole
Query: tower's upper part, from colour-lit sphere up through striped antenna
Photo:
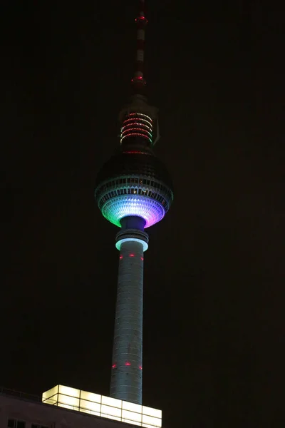
{"type": "Polygon", "coordinates": [[[165,216],[173,200],[172,181],[152,149],[159,138],[157,108],[145,97],[145,1],[140,0],[133,96],[119,115],[120,146],[98,173],[95,199],[101,213],[121,227],[125,217],[142,218],[145,228],[165,216]]]}

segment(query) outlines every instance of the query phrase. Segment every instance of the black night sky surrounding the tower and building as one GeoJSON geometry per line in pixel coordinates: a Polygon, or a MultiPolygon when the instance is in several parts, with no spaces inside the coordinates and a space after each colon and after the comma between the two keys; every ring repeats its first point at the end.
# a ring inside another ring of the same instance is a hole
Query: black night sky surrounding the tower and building
{"type": "MultiPolygon", "coordinates": [[[[2,6],[0,384],[108,394],[118,251],[93,192],[119,143],[137,2],[21,3],[2,6]]],[[[284,427],[282,11],[147,6],[175,203],[148,230],[144,404],[165,428],[284,427]]]]}

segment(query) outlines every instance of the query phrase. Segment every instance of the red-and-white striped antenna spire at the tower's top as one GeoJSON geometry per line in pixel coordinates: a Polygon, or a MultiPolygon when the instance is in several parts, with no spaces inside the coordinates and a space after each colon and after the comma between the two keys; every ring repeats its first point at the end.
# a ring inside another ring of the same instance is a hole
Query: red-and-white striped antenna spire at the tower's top
{"type": "Polygon", "coordinates": [[[145,0],[140,0],[139,14],[135,22],[137,24],[137,51],[132,84],[135,93],[142,93],[146,84],[143,76],[145,62],[145,26],[147,25],[147,19],[145,18],[145,0]]]}

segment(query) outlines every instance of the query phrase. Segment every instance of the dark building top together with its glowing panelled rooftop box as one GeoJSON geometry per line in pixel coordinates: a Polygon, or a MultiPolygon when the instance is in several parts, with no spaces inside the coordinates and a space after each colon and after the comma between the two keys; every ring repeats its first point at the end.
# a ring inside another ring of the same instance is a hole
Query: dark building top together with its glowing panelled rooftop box
{"type": "Polygon", "coordinates": [[[162,427],[161,410],[63,385],[42,397],[0,387],[0,407],[0,427],[162,427]]]}

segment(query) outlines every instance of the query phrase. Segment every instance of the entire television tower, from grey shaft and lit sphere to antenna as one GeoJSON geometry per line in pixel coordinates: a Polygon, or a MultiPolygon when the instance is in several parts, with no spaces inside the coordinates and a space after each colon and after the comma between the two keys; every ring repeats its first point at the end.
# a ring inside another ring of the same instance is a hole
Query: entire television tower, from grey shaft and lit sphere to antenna
{"type": "Polygon", "coordinates": [[[120,111],[120,146],[98,173],[95,199],[103,216],[120,228],[110,397],[142,404],[143,260],[146,228],[158,223],[173,200],[172,181],[153,153],[159,138],[157,108],[145,98],[145,1],[137,19],[133,96],[120,111]],[[154,138],[155,135],[155,138],[154,138]]]}

